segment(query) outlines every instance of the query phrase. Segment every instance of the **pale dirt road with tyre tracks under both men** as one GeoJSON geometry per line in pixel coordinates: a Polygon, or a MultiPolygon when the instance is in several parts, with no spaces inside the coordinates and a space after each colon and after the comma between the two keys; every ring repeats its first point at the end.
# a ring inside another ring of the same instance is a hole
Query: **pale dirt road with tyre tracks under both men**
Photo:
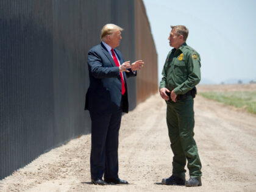
{"type": "Polygon", "coordinates": [[[84,135],[16,171],[0,191],[256,191],[256,116],[201,96],[194,108],[202,187],[160,185],[171,175],[172,152],[166,104],[157,94],[122,119],[119,177],[130,185],[91,185],[90,135],[84,135]]]}

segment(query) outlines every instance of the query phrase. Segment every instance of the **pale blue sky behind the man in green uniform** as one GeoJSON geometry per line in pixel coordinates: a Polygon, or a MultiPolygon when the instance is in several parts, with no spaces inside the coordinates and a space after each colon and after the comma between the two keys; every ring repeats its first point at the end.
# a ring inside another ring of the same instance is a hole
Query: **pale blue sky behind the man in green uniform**
{"type": "Polygon", "coordinates": [[[158,54],[158,79],[171,25],[188,27],[187,44],[201,55],[203,82],[256,79],[256,1],[143,0],[158,54]]]}

